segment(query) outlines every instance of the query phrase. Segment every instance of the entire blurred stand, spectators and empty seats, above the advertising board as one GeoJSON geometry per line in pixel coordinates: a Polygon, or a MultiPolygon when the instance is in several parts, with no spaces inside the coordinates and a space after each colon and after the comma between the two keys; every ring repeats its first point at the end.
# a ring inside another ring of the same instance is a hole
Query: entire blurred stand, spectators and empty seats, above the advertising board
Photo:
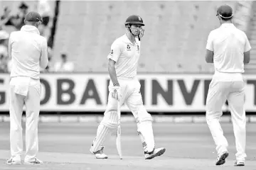
{"type": "Polygon", "coordinates": [[[204,60],[210,30],[220,23],[218,6],[233,8],[235,26],[252,45],[247,73],[255,73],[255,1],[0,1],[0,72],[10,72],[8,40],[28,11],[38,11],[38,28],[48,40],[49,65],[41,72],[107,72],[112,42],[124,34],[127,16],[145,23],[138,72],[213,73],[204,60]]]}

